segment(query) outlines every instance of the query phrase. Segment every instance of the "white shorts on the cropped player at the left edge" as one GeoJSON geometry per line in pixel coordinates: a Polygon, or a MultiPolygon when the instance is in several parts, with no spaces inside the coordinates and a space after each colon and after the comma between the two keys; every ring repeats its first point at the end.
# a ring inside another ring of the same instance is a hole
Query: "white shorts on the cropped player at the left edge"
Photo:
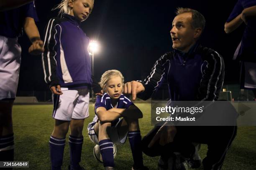
{"type": "Polygon", "coordinates": [[[21,47],[18,38],[0,35],[0,100],[14,100],[20,72],[21,47]]]}

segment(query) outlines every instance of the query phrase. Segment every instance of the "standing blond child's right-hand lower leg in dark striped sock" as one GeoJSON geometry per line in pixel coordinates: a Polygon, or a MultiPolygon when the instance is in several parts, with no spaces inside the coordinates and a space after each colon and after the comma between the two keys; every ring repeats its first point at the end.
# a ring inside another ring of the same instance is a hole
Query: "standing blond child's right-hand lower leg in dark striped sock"
{"type": "Polygon", "coordinates": [[[70,152],[70,170],[78,169],[80,167],[82,154],[82,145],[84,137],[82,134],[84,127],[84,119],[72,119],[70,122],[69,135],[69,152],[70,152]]]}

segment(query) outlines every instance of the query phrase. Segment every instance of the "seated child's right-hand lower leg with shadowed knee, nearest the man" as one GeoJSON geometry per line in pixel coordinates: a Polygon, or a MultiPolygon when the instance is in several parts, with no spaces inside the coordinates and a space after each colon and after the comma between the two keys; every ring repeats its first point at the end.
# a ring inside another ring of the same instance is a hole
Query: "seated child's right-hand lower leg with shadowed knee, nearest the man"
{"type": "Polygon", "coordinates": [[[128,138],[131,145],[131,151],[133,155],[133,168],[143,167],[143,157],[141,151],[141,131],[138,124],[138,119],[125,118],[128,124],[128,138]]]}

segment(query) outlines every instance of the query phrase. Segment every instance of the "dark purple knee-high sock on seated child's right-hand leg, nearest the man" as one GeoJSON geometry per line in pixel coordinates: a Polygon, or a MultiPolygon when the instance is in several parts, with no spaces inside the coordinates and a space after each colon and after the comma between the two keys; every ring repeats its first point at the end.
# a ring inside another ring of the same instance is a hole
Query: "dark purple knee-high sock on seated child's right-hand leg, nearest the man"
{"type": "Polygon", "coordinates": [[[133,167],[141,168],[143,167],[143,157],[141,151],[141,131],[129,131],[128,138],[133,154],[133,167]]]}

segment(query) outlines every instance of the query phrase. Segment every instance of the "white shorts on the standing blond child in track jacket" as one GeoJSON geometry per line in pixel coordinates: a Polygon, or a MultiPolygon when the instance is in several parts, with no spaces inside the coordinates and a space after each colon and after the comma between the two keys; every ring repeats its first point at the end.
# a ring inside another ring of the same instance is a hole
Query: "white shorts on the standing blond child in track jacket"
{"type": "Polygon", "coordinates": [[[61,91],[62,95],[52,95],[54,103],[52,117],[54,119],[70,121],[89,117],[89,89],[61,88],[61,91]]]}

